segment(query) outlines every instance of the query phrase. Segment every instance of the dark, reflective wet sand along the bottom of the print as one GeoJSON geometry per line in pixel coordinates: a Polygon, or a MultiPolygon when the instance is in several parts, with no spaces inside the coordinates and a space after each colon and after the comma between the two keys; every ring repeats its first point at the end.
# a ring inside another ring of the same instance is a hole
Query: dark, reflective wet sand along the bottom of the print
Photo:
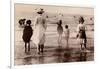
{"type": "Polygon", "coordinates": [[[80,48],[45,47],[44,53],[38,55],[36,48],[31,48],[27,54],[22,48],[15,54],[15,65],[93,61],[93,49],[88,47],[89,52],[82,52],[80,48]]]}

